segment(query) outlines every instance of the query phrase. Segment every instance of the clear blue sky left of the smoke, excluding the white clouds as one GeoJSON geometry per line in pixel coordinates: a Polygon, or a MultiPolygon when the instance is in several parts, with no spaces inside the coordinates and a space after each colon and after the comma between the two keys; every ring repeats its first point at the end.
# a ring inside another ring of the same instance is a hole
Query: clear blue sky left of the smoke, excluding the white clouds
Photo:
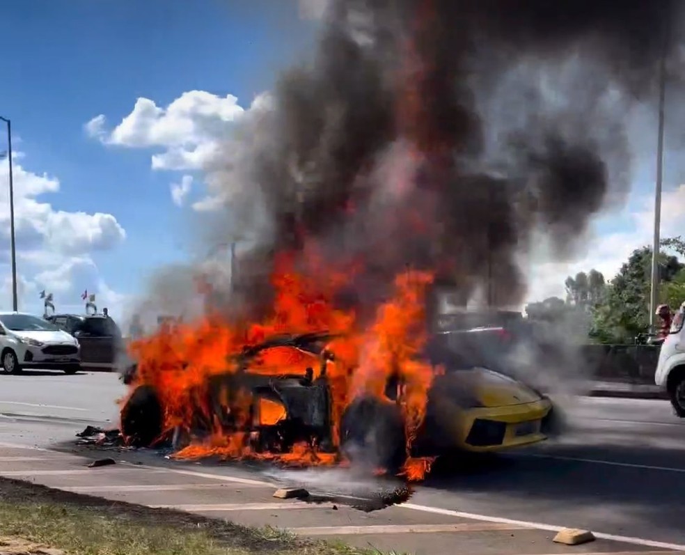
{"type": "MultiPolygon", "coordinates": [[[[164,107],[193,90],[230,93],[248,107],[310,43],[313,25],[298,15],[297,3],[273,0],[3,3],[0,49],[11,54],[0,63],[0,115],[13,120],[14,150],[22,153],[15,164],[59,180],[57,193],[40,196],[53,210],[113,214],[126,235],[110,248],[76,253],[97,266],[76,274],[95,283],[33,283],[31,272],[41,268],[19,260],[19,274],[31,282],[24,308],[51,286],[62,306],[78,303],[77,293],[97,290],[98,279],[129,295],[158,265],[187,258],[188,228],[179,224],[188,216],[169,193],[180,177],[153,171],[151,150],[104,148],[84,124],[105,114],[116,125],[138,97],[164,107]]],[[[10,302],[3,295],[1,308],[10,302]]]]}

